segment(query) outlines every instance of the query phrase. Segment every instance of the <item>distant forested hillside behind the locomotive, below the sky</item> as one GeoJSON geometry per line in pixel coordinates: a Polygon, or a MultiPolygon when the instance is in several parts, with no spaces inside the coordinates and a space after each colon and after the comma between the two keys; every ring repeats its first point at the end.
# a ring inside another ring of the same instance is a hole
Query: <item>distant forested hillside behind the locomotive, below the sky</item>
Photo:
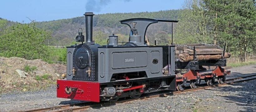
{"type": "MultiPolygon", "coordinates": [[[[97,14],[93,17],[93,30],[97,35],[98,33],[103,34],[103,40],[111,35],[112,33],[118,34],[119,36],[128,35],[129,29],[126,25],[122,25],[119,21],[129,18],[160,18],[160,19],[177,19],[180,10],[167,10],[159,12],[138,12],[138,13],[107,13],[107,14],[97,14]]],[[[56,21],[47,22],[37,22],[36,27],[42,28],[46,31],[52,32],[53,42],[55,45],[66,45],[74,40],[77,35],[78,28],[82,28],[85,31],[85,17],[74,17],[70,19],[61,19],[56,21]]],[[[163,31],[166,29],[171,29],[171,24],[164,26],[159,26],[157,30],[163,31]]],[[[152,29],[152,28],[151,28],[152,29]]],[[[154,29],[152,29],[154,30],[154,29]]],[[[150,28],[149,28],[150,31],[150,28]]],[[[170,33],[169,32],[165,32],[170,33]]],[[[151,34],[152,35],[152,34],[151,34]]],[[[97,37],[97,36],[96,36],[97,37]]],[[[102,40],[102,38],[100,40],[102,40]]],[[[125,40],[124,40],[125,41],[125,40]]],[[[106,43],[106,42],[105,42],[106,43]]]]}

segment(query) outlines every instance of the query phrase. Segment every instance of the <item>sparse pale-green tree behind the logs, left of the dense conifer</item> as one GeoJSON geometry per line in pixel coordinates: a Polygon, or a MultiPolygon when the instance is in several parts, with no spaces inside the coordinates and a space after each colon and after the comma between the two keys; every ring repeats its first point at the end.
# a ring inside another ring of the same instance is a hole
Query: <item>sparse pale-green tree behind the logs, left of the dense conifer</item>
{"type": "Polygon", "coordinates": [[[187,0],[178,16],[175,31],[175,43],[212,43],[212,21],[202,0],[187,0]]]}

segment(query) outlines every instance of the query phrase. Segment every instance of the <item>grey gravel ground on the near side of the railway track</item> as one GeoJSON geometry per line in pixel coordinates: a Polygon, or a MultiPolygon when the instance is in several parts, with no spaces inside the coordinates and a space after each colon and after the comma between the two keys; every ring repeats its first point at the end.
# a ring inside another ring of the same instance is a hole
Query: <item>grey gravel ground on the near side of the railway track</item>
{"type": "Polygon", "coordinates": [[[256,108],[256,81],[236,83],[223,87],[198,90],[180,95],[169,95],[146,100],[136,100],[87,111],[203,111],[252,112],[256,108]]]}

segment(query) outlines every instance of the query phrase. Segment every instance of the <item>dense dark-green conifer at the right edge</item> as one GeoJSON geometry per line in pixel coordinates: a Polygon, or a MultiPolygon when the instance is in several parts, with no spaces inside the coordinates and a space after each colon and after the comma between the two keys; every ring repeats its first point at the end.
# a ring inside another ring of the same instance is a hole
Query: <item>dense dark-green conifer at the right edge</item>
{"type": "Polygon", "coordinates": [[[240,61],[255,50],[256,8],[253,0],[204,0],[214,24],[214,40],[227,43],[228,51],[239,51],[240,61]],[[234,48],[238,49],[234,49],[234,48]]]}

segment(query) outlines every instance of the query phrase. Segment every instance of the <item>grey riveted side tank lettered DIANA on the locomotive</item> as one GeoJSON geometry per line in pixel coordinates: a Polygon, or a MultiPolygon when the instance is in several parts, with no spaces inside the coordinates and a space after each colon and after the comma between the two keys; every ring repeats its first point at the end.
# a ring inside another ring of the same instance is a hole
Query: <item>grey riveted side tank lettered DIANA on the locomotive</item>
{"type": "Polygon", "coordinates": [[[145,72],[147,78],[163,75],[155,72],[162,69],[162,47],[99,47],[98,55],[100,83],[111,82],[112,75],[117,73],[145,72]],[[154,72],[151,73],[150,68],[153,67],[154,72]]]}

